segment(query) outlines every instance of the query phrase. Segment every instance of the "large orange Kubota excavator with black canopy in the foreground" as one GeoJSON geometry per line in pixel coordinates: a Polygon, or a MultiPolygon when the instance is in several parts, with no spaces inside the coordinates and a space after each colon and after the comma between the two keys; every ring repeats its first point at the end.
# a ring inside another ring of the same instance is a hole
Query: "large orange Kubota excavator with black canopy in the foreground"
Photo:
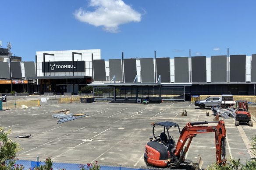
{"type": "Polygon", "coordinates": [[[188,152],[193,137],[196,137],[200,133],[209,132],[215,133],[216,162],[220,166],[225,165],[227,159],[225,158],[226,128],[224,121],[188,122],[182,130],[180,130],[178,124],[170,121],[152,123],[151,125],[153,125],[153,136],[155,140],[151,137],[149,138],[150,141],[146,144],[146,151],[144,153],[146,165],[178,167],[185,161],[185,154],[188,152]],[[203,126],[209,123],[217,123],[217,126],[203,126]],[[164,131],[159,136],[155,135],[156,126],[162,126],[164,128],[164,131]],[[179,130],[180,136],[177,144],[169,133],[170,128],[178,128],[179,130]]]}

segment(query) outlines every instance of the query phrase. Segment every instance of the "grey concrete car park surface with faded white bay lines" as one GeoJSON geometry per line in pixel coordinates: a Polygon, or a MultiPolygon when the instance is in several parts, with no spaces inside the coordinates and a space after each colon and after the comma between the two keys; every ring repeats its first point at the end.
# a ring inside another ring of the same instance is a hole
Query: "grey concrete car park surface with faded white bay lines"
{"type": "MultiPolygon", "coordinates": [[[[48,101],[39,107],[11,109],[0,112],[0,126],[12,129],[11,139],[24,148],[18,153],[20,160],[43,161],[52,156],[53,162],[90,163],[100,165],[146,167],[143,154],[145,144],[152,137],[152,122],[173,121],[182,129],[186,122],[213,121],[191,102],[163,102],[147,105],[137,103],[94,102],[88,104],[58,104],[48,101]],[[88,116],[57,124],[52,118],[54,110],[69,109],[70,113],[85,113],[88,116]],[[188,116],[181,116],[186,110],[188,116]],[[31,138],[15,138],[18,135],[32,135],[31,138]]],[[[220,118],[222,119],[222,118],[220,118]]],[[[251,158],[250,140],[255,135],[256,122],[235,126],[234,119],[224,119],[227,139],[226,157],[241,158],[242,163],[251,158]]],[[[217,123],[208,124],[217,125],[217,123]]],[[[178,129],[170,130],[175,142],[178,129]]],[[[216,161],[214,133],[198,134],[193,138],[186,159],[197,161],[202,155],[203,168],[216,161]]]]}

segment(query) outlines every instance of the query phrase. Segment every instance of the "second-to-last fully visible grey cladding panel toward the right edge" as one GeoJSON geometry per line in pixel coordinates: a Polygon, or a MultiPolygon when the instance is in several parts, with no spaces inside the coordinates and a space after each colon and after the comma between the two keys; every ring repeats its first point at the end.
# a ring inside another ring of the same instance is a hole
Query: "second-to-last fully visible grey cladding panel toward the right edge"
{"type": "Polygon", "coordinates": [[[211,82],[227,82],[227,56],[212,56],[211,82]]]}

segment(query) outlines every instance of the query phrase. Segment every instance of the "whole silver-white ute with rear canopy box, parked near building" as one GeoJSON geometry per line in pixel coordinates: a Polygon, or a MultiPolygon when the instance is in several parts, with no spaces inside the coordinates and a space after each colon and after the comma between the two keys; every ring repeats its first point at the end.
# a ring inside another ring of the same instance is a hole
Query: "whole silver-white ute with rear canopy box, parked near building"
{"type": "Polygon", "coordinates": [[[200,109],[206,107],[218,106],[222,108],[228,108],[235,105],[235,101],[232,94],[223,94],[221,97],[207,97],[204,100],[195,101],[195,106],[199,106],[200,109]]]}

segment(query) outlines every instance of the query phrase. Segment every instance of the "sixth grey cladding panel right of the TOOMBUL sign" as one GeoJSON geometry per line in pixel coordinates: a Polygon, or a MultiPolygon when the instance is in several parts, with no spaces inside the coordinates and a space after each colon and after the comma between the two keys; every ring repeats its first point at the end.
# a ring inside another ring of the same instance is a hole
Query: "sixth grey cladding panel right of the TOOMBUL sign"
{"type": "Polygon", "coordinates": [[[175,83],[188,83],[188,57],[174,57],[175,83]]]}

